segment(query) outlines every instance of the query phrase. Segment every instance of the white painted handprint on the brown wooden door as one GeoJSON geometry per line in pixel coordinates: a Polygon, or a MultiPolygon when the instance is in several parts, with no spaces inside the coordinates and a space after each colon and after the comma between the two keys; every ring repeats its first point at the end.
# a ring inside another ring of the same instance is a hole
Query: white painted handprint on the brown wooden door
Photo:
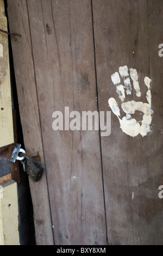
{"type": "Polygon", "coordinates": [[[131,137],[135,137],[137,135],[146,136],[149,132],[151,132],[151,122],[152,122],[152,96],[151,96],[151,79],[149,77],[145,77],[144,82],[147,87],[146,99],[148,103],[143,103],[141,101],[127,101],[126,94],[131,95],[132,85],[131,81],[133,81],[133,88],[135,89],[135,93],[137,97],[141,96],[140,86],[138,82],[138,75],[136,69],[129,69],[127,66],[120,66],[119,73],[115,72],[111,75],[111,80],[116,86],[116,92],[118,97],[121,100],[121,108],[123,112],[126,114],[123,118],[121,118],[120,108],[113,97],[110,97],[108,100],[109,106],[112,112],[117,116],[120,121],[120,127],[123,132],[131,137]],[[121,78],[123,79],[124,85],[121,84],[121,78]],[[131,80],[130,80],[131,79],[131,80]],[[141,111],[143,113],[142,120],[137,121],[132,117],[132,114],[135,111],[141,111]]]}

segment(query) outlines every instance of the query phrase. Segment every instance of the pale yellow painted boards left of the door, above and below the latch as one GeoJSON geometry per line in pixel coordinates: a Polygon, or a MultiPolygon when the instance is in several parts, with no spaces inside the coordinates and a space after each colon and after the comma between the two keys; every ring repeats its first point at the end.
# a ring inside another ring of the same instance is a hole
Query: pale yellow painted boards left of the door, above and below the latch
{"type": "MultiPolygon", "coordinates": [[[[4,14],[3,0],[0,0],[0,28],[7,31],[7,18],[4,14]]],[[[0,148],[12,143],[14,143],[14,132],[8,35],[0,32],[0,148]]],[[[3,185],[0,184],[0,245],[20,245],[17,184],[13,180],[4,182],[3,185]]]]}

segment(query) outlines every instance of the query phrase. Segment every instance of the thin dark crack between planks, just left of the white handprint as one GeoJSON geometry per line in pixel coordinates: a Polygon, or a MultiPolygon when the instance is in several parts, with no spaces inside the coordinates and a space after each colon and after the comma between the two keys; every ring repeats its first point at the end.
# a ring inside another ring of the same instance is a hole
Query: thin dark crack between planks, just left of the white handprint
{"type": "MultiPolygon", "coordinates": [[[[95,81],[96,81],[96,95],[97,95],[97,111],[99,113],[99,104],[98,104],[98,85],[97,85],[97,66],[96,66],[96,46],[95,46],[95,29],[94,29],[94,19],[93,19],[93,1],[91,1],[91,13],[92,13],[92,32],[93,32],[93,52],[94,52],[94,63],[95,63],[95,81]]],[[[105,232],[106,232],[106,243],[108,242],[108,228],[107,228],[107,219],[106,219],[106,205],[105,205],[105,189],[104,189],[104,172],[103,172],[103,161],[102,161],[102,142],[101,142],[101,131],[99,124],[99,148],[101,154],[101,169],[102,169],[102,184],[103,184],[103,200],[104,200],[104,212],[105,212],[105,232]]]]}

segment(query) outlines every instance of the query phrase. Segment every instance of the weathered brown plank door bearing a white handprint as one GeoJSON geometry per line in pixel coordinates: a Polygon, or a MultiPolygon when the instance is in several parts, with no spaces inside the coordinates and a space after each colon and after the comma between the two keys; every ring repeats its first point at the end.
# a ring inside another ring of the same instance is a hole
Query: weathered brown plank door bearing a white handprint
{"type": "Polygon", "coordinates": [[[155,2],[8,0],[10,32],[21,34],[11,42],[24,145],[45,167],[41,181],[29,178],[38,245],[162,244],[155,2]],[[111,111],[111,134],[54,131],[65,107],[111,111]]]}

